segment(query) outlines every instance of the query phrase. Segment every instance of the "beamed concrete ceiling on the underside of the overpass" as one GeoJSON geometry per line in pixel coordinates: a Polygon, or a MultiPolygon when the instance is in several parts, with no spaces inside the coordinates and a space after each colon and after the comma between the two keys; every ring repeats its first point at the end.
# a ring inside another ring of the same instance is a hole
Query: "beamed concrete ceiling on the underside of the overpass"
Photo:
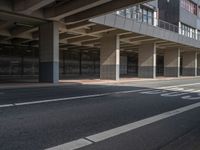
{"type": "Polygon", "coordinates": [[[149,0],[1,0],[0,43],[38,46],[38,26],[59,24],[61,49],[99,49],[105,34],[120,36],[121,51],[156,42],[159,49],[183,45],[90,22],[89,19],[149,0]]]}

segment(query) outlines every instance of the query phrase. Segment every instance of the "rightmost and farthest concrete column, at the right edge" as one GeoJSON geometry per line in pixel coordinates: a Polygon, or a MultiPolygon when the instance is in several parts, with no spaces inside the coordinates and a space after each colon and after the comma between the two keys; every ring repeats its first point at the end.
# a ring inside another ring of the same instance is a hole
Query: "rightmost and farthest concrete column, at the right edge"
{"type": "Polygon", "coordinates": [[[197,76],[197,52],[183,52],[183,76],[197,76]]]}

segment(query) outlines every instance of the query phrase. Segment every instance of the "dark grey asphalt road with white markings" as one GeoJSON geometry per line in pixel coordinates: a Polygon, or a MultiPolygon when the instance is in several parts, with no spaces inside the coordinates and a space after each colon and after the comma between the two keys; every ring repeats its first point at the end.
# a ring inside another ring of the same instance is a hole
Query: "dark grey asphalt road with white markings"
{"type": "Polygon", "coordinates": [[[199,150],[200,78],[0,90],[1,150],[199,150]]]}

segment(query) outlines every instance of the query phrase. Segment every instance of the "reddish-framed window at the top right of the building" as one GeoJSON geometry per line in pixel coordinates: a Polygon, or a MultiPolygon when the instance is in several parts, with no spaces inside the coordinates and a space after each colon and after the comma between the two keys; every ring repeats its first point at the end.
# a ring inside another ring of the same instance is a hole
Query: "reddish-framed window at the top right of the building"
{"type": "Polygon", "coordinates": [[[190,13],[197,15],[197,5],[190,0],[181,0],[181,7],[190,13]]]}

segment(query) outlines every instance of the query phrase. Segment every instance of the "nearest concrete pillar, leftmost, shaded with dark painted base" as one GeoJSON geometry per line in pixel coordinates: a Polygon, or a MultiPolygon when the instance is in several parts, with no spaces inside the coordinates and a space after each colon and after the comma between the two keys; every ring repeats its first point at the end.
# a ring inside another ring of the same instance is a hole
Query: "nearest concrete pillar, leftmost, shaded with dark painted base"
{"type": "Polygon", "coordinates": [[[59,30],[55,22],[40,26],[39,81],[59,82],[59,30]]]}

